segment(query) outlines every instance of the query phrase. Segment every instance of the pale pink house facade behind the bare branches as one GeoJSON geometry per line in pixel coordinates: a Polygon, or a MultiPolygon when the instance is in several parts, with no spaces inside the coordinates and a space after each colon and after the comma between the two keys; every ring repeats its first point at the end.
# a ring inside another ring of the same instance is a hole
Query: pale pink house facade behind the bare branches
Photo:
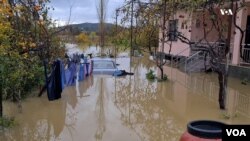
{"type": "MultiPolygon", "coordinates": [[[[233,15],[233,10],[231,11],[230,8],[214,8],[214,12],[220,19],[218,22],[221,22],[219,24],[219,28],[224,29],[222,32],[223,36],[225,39],[230,36],[230,63],[237,66],[250,64],[250,0],[245,0],[244,5],[245,6],[241,8],[236,15],[233,15]],[[244,31],[244,34],[241,34],[240,30],[235,27],[234,16],[236,18],[236,25],[244,31]],[[232,18],[231,21],[230,18],[232,18]],[[228,34],[230,31],[228,27],[231,27],[230,35],[228,34]],[[242,35],[243,38],[241,41],[242,35]]],[[[225,7],[229,6],[227,5],[225,7]]],[[[235,5],[233,7],[235,10],[235,5]]],[[[216,28],[213,27],[214,24],[209,18],[211,18],[211,15],[209,15],[208,12],[204,13],[199,9],[193,13],[189,13],[187,11],[177,11],[171,17],[171,20],[166,22],[166,28],[169,31],[176,29],[176,32],[181,33],[191,42],[209,42],[210,44],[213,44],[218,42],[219,33],[216,28]]],[[[161,37],[162,33],[160,32],[159,38],[161,39],[161,37]]],[[[164,44],[164,52],[166,54],[185,56],[188,58],[195,53],[191,49],[190,44],[184,43],[179,38],[175,39],[171,36],[168,36],[167,38],[168,41],[164,44]]],[[[162,50],[161,48],[162,46],[159,44],[159,51],[162,50]]]]}

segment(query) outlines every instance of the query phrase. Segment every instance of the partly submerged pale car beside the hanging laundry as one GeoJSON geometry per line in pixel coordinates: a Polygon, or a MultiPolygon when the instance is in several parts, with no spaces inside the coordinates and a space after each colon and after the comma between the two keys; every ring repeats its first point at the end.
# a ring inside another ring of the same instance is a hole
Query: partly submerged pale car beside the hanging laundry
{"type": "Polygon", "coordinates": [[[113,75],[117,66],[111,58],[93,58],[93,74],[113,75]]]}

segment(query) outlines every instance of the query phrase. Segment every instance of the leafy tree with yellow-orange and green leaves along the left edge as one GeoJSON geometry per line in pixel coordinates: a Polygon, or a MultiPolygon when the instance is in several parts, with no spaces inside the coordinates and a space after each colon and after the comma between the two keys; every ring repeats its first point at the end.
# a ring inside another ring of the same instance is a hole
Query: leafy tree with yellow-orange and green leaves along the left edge
{"type": "Polygon", "coordinates": [[[64,56],[65,49],[47,16],[47,1],[8,2],[0,5],[2,94],[3,99],[24,98],[44,84],[42,61],[53,62],[64,56]]]}

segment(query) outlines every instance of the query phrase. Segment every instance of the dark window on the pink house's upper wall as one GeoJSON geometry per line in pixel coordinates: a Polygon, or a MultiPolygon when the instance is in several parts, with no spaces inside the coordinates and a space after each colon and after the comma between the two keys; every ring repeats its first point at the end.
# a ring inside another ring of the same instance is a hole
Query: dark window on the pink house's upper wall
{"type": "Polygon", "coordinates": [[[169,41],[177,41],[177,25],[178,25],[178,20],[170,20],[169,21],[169,33],[168,33],[168,38],[169,41]]]}

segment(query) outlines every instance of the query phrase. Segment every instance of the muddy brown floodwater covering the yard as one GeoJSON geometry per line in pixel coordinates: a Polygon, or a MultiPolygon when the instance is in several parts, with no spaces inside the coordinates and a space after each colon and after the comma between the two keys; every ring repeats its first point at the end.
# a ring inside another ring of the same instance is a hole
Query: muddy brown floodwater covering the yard
{"type": "Polygon", "coordinates": [[[28,98],[17,106],[5,102],[4,114],[14,116],[16,127],[0,130],[1,141],[178,141],[192,120],[250,123],[249,86],[229,79],[227,111],[218,106],[215,74],[187,75],[165,67],[170,80],[149,82],[145,58],[118,58],[121,69],[133,76],[91,76],[67,87],[62,98],[28,98]]]}

